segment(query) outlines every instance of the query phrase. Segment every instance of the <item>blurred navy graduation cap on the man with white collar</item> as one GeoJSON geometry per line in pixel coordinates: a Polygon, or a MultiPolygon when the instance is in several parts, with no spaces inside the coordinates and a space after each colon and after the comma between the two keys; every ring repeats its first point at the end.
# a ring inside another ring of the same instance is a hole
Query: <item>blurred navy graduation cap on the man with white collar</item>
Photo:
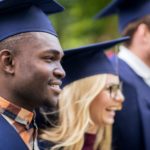
{"type": "Polygon", "coordinates": [[[119,31],[122,32],[128,23],[150,14],[150,1],[113,0],[95,18],[100,19],[114,14],[119,17],[119,31]]]}

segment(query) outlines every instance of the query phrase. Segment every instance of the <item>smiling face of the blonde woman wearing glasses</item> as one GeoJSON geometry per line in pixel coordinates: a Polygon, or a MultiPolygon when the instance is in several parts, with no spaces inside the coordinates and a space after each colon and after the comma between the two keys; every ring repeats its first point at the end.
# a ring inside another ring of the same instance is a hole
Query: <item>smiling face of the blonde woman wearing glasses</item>
{"type": "Polygon", "coordinates": [[[90,105],[90,115],[95,125],[113,124],[115,112],[122,108],[123,101],[118,76],[107,75],[105,87],[90,105]]]}

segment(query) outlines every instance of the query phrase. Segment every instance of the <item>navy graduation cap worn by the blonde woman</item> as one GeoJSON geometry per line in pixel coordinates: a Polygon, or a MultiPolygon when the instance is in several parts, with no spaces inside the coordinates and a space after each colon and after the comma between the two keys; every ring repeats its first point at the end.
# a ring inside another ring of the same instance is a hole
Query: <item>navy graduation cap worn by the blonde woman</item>
{"type": "Polygon", "coordinates": [[[104,51],[128,39],[129,37],[122,37],[64,51],[62,66],[66,71],[66,77],[62,86],[96,74],[117,74],[104,51]]]}

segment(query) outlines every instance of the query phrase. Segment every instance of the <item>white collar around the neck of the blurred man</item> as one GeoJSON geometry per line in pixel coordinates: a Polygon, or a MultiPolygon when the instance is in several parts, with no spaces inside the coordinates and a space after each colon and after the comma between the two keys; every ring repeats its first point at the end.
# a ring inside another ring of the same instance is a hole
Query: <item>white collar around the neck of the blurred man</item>
{"type": "Polygon", "coordinates": [[[146,84],[150,86],[150,67],[148,67],[140,58],[134,55],[129,49],[125,46],[120,46],[120,52],[118,57],[124,60],[132,70],[142,77],[146,84]]]}

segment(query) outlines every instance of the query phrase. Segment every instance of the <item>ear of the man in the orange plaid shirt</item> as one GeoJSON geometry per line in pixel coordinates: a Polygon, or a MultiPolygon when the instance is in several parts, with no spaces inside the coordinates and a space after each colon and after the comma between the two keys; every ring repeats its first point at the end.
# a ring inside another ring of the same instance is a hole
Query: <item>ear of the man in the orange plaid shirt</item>
{"type": "Polygon", "coordinates": [[[0,67],[7,74],[14,74],[14,57],[11,50],[0,50],[0,67]]]}

